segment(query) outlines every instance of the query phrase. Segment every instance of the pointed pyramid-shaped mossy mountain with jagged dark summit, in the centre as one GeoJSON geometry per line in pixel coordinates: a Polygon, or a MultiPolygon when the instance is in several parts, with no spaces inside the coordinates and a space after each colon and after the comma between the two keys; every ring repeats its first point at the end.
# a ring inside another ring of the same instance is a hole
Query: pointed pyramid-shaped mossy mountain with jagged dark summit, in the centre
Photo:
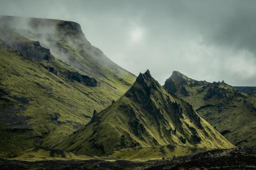
{"type": "Polygon", "coordinates": [[[159,145],[233,147],[190,104],[168,94],[147,70],[121,98],[95,112],[90,123],[52,147],[106,156],[122,149],[159,145]]]}

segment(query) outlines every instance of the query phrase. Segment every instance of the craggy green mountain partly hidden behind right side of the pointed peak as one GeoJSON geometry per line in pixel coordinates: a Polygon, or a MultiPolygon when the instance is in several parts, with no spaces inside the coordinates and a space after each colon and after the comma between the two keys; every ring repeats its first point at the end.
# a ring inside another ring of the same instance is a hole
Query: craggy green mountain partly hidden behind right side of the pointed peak
{"type": "Polygon", "coordinates": [[[193,105],[200,116],[234,145],[255,144],[255,96],[240,92],[224,81],[196,81],[178,71],[173,72],[163,87],[193,105]]]}

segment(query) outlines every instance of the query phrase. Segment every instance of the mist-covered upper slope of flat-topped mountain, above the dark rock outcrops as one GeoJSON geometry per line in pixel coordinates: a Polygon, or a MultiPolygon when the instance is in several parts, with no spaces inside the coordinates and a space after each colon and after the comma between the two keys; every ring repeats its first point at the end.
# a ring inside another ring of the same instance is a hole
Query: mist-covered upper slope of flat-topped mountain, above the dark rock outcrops
{"type": "Polygon", "coordinates": [[[127,90],[135,80],[133,74],[91,45],[76,22],[13,16],[2,16],[0,21],[3,26],[14,28],[20,35],[39,41],[57,59],[111,86],[119,94],[127,90]]]}

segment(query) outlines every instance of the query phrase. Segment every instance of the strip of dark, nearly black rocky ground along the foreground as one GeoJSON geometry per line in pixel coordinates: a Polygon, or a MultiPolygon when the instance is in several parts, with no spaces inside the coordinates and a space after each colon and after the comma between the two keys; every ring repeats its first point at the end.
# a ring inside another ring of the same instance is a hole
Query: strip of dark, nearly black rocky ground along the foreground
{"type": "Polygon", "coordinates": [[[102,159],[27,162],[0,159],[0,169],[256,169],[256,147],[213,150],[146,162],[102,159]]]}

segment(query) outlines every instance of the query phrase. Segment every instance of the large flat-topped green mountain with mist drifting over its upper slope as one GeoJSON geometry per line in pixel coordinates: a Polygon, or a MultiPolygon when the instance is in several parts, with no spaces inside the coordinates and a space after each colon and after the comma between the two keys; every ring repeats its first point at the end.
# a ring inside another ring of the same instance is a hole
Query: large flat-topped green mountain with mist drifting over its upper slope
{"type": "Polygon", "coordinates": [[[49,147],[73,133],[136,78],[72,21],[2,16],[0,52],[1,157],[49,147]]]}

